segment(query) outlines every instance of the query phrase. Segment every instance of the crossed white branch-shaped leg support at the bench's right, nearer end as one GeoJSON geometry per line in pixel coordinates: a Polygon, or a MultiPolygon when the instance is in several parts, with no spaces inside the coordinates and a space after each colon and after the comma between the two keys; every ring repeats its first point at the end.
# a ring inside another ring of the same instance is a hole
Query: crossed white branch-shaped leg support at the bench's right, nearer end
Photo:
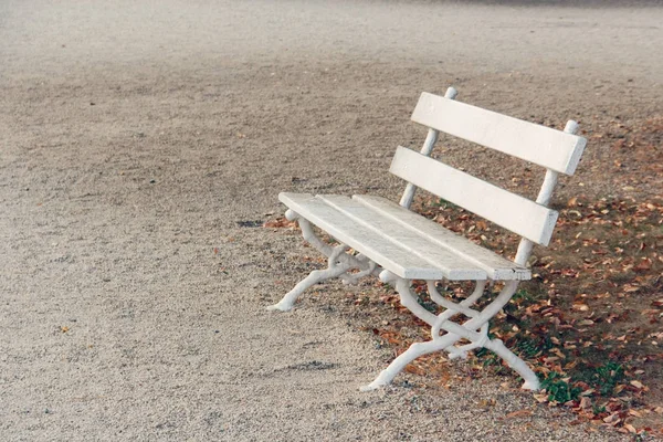
{"type": "MultiPolygon", "coordinates": [[[[469,311],[469,304],[476,301],[482,292],[485,284],[483,282],[477,283],[477,290],[470,296],[465,302],[461,303],[457,307],[448,305],[449,309],[441,313],[440,315],[433,315],[428,312],[425,308],[421,307],[419,303],[417,303],[415,295],[410,290],[410,282],[407,280],[402,280],[391,272],[385,271],[380,274],[380,278],[385,282],[391,282],[396,284],[397,291],[401,296],[401,303],[403,306],[408,307],[415,316],[427,322],[432,326],[433,329],[433,340],[429,340],[427,343],[415,343],[408,348],[402,355],[396,358],[389,367],[378,375],[378,377],[368,386],[361,387],[361,391],[370,391],[375,390],[379,387],[386,386],[390,383],[396,376],[401,372],[408,364],[413,361],[420,356],[428,355],[433,351],[448,350],[451,354],[451,357],[454,356],[463,356],[466,354],[469,349],[484,347],[497,356],[503,358],[506,364],[514,369],[518,375],[523,377],[525,383],[523,385],[524,389],[527,390],[538,390],[539,381],[534,371],[527,366],[527,364],[514,355],[502,340],[494,339],[491,340],[487,337],[487,323],[488,320],[495,316],[503,307],[508,303],[511,297],[516,292],[518,286],[517,281],[509,281],[505,284],[504,288],[497,296],[495,301],[493,301],[482,312],[478,311],[469,311]],[[478,292],[481,287],[481,292],[478,292]],[[467,303],[467,301],[471,301],[467,303]],[[415,304],[415,305],[414,305],[415,304]],[[463,325],[450,322],[449,319],[459,313],[464,313],[471,317],[471,319],[466,320],[463,325]],[[481,329],[480,333],[476,330],[481,329]],[[446,332],[444,335],[440,336],[440,330],[446,332]],[[461,339],[469,339],[471,344],[462,346],[460,348],[454,347],[454,345],[461,339]]],[[[434,288],[434,285],[433,285],[434,288]]],[[[431,284],[429,284],[429,290],[431,290],[431,284]]],[[[438,301],[439,294],[435,292],[433,295],[438,301]]]]}

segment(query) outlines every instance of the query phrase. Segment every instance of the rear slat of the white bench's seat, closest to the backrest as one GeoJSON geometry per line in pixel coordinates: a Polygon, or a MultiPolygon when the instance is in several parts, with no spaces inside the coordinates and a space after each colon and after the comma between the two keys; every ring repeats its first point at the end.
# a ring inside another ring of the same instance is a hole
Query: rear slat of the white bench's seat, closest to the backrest
{"type": "Polygon", "coordinates": [[[517,265],[516,263],[473,243],[464,236],[461,236],[436,222],[432,222],[418,213],[414,213],[393,201],[386,198],[367,194],[356,194],[352,199],[361,204],[371,208],[376,212],[398,222],[406,229],[411,229],[434,243],[462,256],[464,260],[475,263],[475,265],[485,270],[488,278],[495,281],[525,281],[532,277],[529,269],[517,265]]]}

